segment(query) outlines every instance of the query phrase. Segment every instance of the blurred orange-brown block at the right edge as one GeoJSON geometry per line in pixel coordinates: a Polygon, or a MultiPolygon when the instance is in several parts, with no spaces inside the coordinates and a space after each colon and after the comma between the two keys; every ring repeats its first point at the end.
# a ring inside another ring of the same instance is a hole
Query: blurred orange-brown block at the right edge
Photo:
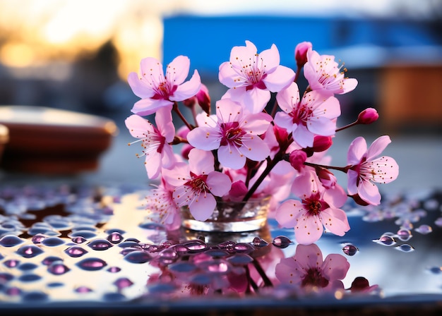
{"type": "Polygon", "coordinates": [[[413,131],[442,125],[442,65],[392,65],[381,68],[379,110],[383,130],[413,131]]]}

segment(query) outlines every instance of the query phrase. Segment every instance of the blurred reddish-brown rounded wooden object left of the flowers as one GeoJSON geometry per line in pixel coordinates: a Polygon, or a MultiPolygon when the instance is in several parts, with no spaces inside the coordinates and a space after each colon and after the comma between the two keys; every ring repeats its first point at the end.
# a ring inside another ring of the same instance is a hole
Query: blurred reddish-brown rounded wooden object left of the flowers
{"type": "Polygon", "coordinates": [[[47,107],[0,107],[0,124],[9,130],[1,169],[33,174],[95,170],[117,133],[112,120],[47,107]]]}

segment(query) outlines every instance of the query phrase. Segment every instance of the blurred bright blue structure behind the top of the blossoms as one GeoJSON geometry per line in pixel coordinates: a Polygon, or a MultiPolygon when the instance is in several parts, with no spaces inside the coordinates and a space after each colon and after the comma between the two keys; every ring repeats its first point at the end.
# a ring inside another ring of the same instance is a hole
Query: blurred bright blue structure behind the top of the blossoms
{"type": "MultiPolygon", "coordinates": [[[[164,19],[164,63],[177,55],[191,59],[191,69],[217,74],[218,66],[229,60],[230,49],[248,39],[258,52],[276,44],[281,64],[295,67],[294,47],[309,41],[321,54],[347,47],[390,49],[441,44],[425,23],[369,18],[287,17],[287,16],[172,16],[164,19]]],[[[376,56],[359,56],[364,66],[376,66],[376,56]],[[372,59],[371,59],[372,58],[372,59]],[[371,60],[370,60],[371,59],[371,60]]],[[[339,56],[337,56],[339,57],[339,56]]],[[[347,62],[347,60],[345,60],[347,62]]],[[[351,65],[357,67],[360,65],[351,65]]],[[[378,66],[378,65],[377,65],[378,66]]]]}

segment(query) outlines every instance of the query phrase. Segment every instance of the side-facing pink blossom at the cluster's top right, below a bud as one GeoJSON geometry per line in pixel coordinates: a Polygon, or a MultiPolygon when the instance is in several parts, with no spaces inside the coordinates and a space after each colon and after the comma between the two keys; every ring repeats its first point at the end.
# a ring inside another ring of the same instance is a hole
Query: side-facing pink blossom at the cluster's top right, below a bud
{"type": "Polygon", "coordinates": [[[318,90],[326,95],[342,95],[354,90],[357,80],[345,78],[342,66],[335,62],[335,56],[320,55],[309,49],[304,65],[304,77],[309,81],[311,90],[318,90]]]}

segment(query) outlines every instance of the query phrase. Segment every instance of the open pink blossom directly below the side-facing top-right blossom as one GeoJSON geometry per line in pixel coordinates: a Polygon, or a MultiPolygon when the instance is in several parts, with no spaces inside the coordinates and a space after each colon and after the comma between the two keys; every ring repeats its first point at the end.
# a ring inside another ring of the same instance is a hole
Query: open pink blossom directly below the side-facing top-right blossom
{"type": "Polygon", "coordinates": [[[335,135],[335,119],[341,114],[335,97],[311,91],[300,100],[298,85],[292,83],[276,99],[282,111],[277,112],[275,123],[292,133],[299,146],[312,147],[315,135],[335,135]]]}

